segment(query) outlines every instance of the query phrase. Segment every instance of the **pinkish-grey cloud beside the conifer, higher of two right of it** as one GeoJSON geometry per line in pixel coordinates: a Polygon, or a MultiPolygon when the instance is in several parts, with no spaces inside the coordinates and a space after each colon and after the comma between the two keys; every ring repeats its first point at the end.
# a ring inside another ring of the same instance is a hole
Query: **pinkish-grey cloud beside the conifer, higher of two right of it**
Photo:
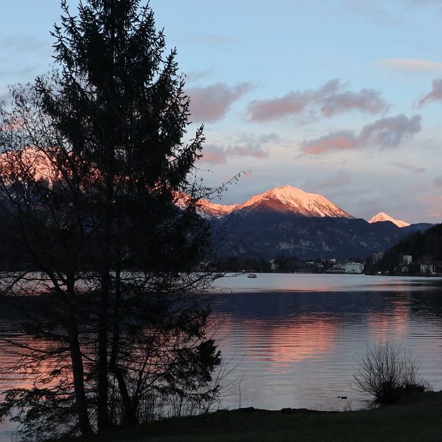
{"type": "Polygon", "coordinates": [[[224,117],[231,104],[250,89],[249,83],[240,83],[232,87],[217,83],[205,88],[187,89],[186,93],[191,97],[191,118],[202,122],[215,122],[224,117]]]}

